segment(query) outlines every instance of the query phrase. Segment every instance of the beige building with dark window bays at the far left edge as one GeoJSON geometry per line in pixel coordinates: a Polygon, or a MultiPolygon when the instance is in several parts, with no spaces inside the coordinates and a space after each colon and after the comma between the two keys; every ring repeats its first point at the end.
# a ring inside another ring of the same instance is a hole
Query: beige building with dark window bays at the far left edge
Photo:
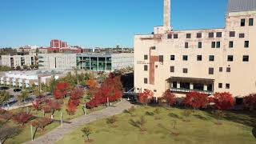
{"type": "Polygon", "coordinates": [[[2,66],[31,66],[36,64],[35,54],[28,55],[2,55],[2,66]]]}

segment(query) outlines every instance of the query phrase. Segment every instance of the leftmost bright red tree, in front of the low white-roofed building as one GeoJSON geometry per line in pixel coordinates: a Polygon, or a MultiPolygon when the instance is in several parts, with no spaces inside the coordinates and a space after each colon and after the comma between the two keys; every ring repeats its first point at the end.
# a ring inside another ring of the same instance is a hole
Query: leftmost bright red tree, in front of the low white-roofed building
{"type": "Polygon", "coordinates": [[[54,98],[62,99],[68,94],[70,84],[67,82],[59,82],[54,89],[54,98]]]}

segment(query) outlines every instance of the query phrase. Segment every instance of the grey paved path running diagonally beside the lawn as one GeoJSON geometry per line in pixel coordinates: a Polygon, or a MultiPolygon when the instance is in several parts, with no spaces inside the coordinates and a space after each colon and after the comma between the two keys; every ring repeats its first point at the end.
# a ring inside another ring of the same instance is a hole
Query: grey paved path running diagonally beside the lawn
{"type": "Polygon", "coordinates": [[[121,114],[123,110],[127,110],[133,106],[130,102],[122,100],[118,102],[115,106],[110,106],[103,110],[98,110],[88,115],[83,115],[78,118],[70,120],[70,124],[63,124],[63,126],[58,126],[49,133],[42,135],[42,137],[34,139],[33,142],[25,142],[25,144],[51,144],[64,137],[65,134],[71,133],[73,130],[83,126],[86,123],[94,122],[98,119],[107,118],[115,114],[121,114]]]}

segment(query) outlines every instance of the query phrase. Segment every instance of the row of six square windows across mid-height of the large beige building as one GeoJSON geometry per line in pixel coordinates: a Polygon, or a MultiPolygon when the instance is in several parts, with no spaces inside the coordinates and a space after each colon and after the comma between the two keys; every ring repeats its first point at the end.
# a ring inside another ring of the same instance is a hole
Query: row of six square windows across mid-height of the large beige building
{"type": "MultiPolygon", "coordinates": [[[[175,55],[170,55],[170,60],[174,61],[175,60],[175,55]]],[[[182,60],[183,61],[188,61],[188,56],[183,55],[182,60]]],[[[202,55],[197,55],[197,61],[202,61],[202,55]]],[[[214,55],[209,55],[209,61],[214,62],[214,55]]],[[[227,56],[227,61],[228,62],[233,62],[234,61],[234,56],[233,55],[228,55],[227,56]]],[[[249,55],[243,55],[242,56],[242,62],[249,62],[249,55]]]]}

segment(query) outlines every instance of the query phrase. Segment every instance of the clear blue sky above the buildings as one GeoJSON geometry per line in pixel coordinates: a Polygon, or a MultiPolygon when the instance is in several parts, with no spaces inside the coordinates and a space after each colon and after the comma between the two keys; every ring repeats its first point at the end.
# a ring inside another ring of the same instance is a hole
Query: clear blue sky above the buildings
{"type": "MultiPolygon", "coordinates": [[[[174,30],[225,26],[227,0],[171,0],[174,30]]],[[[134,34],[162,26],[163,0],[1,0],[0,47],[133,46],[134,34]]]]}

